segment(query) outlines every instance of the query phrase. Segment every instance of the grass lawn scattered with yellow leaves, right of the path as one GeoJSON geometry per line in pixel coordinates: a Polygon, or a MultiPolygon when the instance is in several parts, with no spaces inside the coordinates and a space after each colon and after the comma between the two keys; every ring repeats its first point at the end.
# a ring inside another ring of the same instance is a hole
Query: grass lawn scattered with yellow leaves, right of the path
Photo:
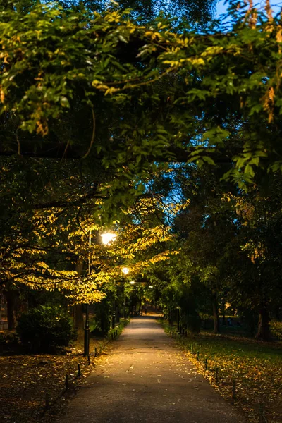
{"type": "Polygon", "coordinates": [[[221,395],[245,411],[249,422],[282,422],[281,342],[265,343],[206,331],[199,336],[178,337],[178,343],[221,395]],[[263,415],[261,419],[259,414],[263,415]]]}

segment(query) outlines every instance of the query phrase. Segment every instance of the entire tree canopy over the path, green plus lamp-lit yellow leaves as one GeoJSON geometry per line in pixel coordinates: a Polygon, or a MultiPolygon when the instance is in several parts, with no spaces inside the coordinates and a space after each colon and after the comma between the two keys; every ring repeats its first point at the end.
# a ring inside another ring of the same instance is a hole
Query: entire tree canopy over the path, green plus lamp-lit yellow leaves
{"type": "Polygon", "coordinates": [[[195,331],[229,302],[269,338],[281,17],[234,1],[203,28],[90,3],[2,2],[1,285],[97,302],[128,265],[195,331]]]}

